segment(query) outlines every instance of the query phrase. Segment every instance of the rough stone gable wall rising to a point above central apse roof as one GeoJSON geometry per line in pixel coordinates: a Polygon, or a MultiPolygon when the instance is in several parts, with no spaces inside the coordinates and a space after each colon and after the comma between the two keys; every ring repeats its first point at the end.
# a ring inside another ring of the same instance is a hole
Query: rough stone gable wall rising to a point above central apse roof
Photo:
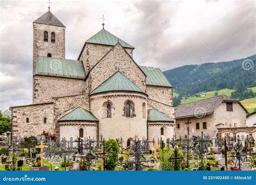
{"type": "Polygon", "coordinates": [[[120,71],[143,91],[146,91],[146,77],[133,59],[118,43],[113,49],[91,70],[89,74],[89,92],[120,71]]]}

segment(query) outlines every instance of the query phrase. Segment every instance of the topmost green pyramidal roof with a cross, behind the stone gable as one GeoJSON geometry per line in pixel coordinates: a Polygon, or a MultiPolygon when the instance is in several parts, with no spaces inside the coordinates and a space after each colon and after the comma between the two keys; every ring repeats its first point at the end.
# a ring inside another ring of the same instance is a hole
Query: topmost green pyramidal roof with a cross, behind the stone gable
{"type": "Polygon", "coordinates": [[[103,44],[103,45],[111,45],[114,46],[119,42],[123,47],[130,47],[134,49],[132,45],[124,42],[124,40],[119,39],[118,37],[114,36],[112,33],[102,29],[94,36],[86,40],[86,43],[94,43],[94,44],[103,44]]]}

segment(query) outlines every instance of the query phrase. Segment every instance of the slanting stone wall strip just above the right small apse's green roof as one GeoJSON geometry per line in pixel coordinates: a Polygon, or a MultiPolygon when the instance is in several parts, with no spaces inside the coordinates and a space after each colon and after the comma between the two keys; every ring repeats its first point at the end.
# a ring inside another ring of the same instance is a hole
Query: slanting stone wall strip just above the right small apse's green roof
{"type": "Polygon", "coordinates": [[[174,121],[174,119],[175,119],[175,114],[174,114],[175,108],[174,107],[171,107],[171,106],[165,105],[165,104],[161,104],[160,102],[154,101],[151,99],[147,100],[147,105],[149,106],[149,108],[158,109],[158,111],[166,114],[169,118],[172,118],[174,121]]]}

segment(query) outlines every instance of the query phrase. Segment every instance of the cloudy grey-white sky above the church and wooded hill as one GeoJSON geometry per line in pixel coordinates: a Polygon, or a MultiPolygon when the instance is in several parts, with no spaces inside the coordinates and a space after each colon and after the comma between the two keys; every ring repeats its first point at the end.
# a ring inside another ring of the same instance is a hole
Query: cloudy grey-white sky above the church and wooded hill
{"type": "MultiPolygon", "coordinates": [[[[139,65],[171,68],[246,58],[256,52],[254,1],[55,1],[66,26],[66,58],[105,29],[136,47],[139,65]]],[[[0,0],[0,109],[32,103],[32,22],[47,0],[0,0]]]]}

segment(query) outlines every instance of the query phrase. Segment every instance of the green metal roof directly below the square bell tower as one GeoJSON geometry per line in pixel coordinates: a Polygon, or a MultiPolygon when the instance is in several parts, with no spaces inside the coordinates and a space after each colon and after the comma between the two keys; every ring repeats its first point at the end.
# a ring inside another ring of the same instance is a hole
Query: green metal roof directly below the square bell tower
{"type": "Polygon", "coordinates": [[[79,60],[37,57],[36,74],[57,77],[85,78],[84,65],[79,60]]]}

